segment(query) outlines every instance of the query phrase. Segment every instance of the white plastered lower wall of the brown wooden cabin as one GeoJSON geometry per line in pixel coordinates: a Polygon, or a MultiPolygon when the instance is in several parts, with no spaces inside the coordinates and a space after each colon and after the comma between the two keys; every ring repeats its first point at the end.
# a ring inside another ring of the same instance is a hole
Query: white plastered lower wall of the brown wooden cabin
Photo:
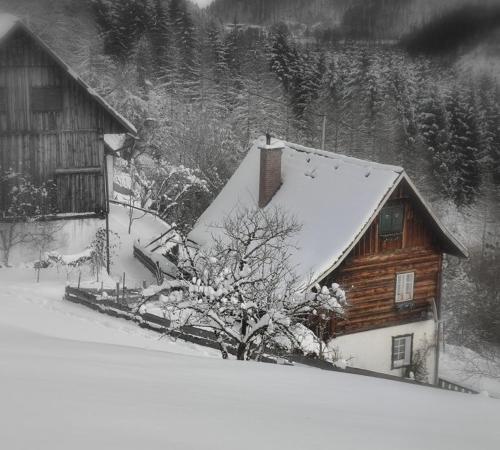
{"type": "Polygon", "coordinates": [[[434,382],[435,375],[435,323],[433,320],[406,325],[380,328],[361,333],[339,336],[330,341],[348,365],[373,370],[389,375],[402,376],[404,369],[391,369],[392,337],[413,334],[413,354],[419,348],[432,345],[427,353],[428,382],[434,382]]]}

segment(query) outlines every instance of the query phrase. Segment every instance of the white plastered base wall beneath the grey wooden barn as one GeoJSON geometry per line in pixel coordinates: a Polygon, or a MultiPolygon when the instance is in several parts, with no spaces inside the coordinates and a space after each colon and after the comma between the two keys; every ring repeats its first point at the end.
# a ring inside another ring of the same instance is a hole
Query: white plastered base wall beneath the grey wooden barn
{"type": "MultiPolygon", "coordinates": [[[[55,250],[63,255],[80,253],[92,242],[97,230],[105,226],[105,220],[96,218],[54,220],[44,222],[43,225],[52,230],[51,234],[54,240],[44,248],[41,248],[40,244],[37,245],[33,242],[13,247],[9,257],[10,265],[36,261],[40,256],[40,250],[42,253],[55,250]]],[[[5,227],[8,224],[0,224],[0,226],[5,227]]],[[[16,227],[19,227],[18,230],[22,228],[24,231],[32,232],[39,226],[40,224],[34,223],[16,225],[16,227]]]]}

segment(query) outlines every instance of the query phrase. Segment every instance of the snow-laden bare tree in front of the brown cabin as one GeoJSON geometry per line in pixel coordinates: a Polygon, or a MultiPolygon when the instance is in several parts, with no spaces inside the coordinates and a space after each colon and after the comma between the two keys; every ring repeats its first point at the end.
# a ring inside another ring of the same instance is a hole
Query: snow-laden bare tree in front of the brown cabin
{"type": "Polygon", "coordinates": [[[240,360],[258,359],[277,335],[296,342],[293,326],[319,310],[342,311],[343,291],[299,283],[290,265],[297,222],[278,209],[242,210],[226,219],[208,250],[185,248],[187,288],[162,297],[178,326],[212,328],[237,346],[240,360]]]}

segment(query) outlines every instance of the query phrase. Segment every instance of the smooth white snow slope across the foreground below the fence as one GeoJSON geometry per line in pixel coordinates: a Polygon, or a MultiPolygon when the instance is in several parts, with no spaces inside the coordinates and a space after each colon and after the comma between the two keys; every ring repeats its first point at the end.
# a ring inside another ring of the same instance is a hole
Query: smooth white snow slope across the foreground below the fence
{"type": "Polygon", "coordinates": [[[0,269],[0,448],[498,448],[496,400],[208,357],[30,275],[0,269]]]}

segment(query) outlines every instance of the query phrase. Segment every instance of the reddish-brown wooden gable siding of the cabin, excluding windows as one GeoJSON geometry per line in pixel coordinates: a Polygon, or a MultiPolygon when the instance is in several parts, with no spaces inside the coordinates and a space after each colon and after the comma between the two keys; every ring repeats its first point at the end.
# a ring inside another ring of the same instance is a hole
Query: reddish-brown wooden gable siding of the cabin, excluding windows
{"type": "Polygon", "coordinates": [[[401,184],[388,203],[404,204],[401,236],[378,234],[377,217],[344,262],[325,280],[339,283],[347,294],[345,320],[332,320],[331,335],[399,325],[432,317],[432,300],[439,301],[442,251],[429,221],[407,186],[401,184]],[[396,276],[414,272],[412,302],[396,303],[396,276]]]}

